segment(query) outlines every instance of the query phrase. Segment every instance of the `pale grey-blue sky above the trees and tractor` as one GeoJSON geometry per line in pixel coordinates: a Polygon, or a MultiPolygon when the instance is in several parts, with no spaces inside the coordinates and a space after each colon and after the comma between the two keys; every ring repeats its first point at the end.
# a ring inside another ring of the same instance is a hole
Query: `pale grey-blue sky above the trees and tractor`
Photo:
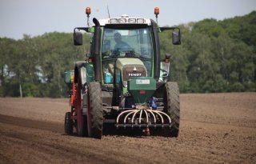
{"type": "Polygon", "coordinates": [[[72,33],[86,26],[85,8],[92,18],[153,18],[158,6],[159,26],[198,22],[205,18],[223,20],[256,10],[256,0],[0,0],[0,37],[22,39],[23,34],[38,36],[48,32],[72,33]]]}

